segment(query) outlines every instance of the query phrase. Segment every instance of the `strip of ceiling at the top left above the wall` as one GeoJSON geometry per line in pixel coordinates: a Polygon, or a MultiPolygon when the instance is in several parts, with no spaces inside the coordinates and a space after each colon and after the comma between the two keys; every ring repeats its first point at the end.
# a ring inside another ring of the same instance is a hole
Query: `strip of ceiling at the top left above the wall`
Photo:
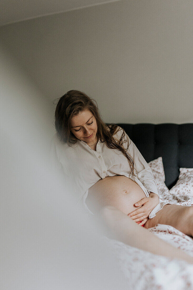
{"type": "Polygon", "coordinates": [[[0,26],[120,0],[1,0],[0,26]]]}

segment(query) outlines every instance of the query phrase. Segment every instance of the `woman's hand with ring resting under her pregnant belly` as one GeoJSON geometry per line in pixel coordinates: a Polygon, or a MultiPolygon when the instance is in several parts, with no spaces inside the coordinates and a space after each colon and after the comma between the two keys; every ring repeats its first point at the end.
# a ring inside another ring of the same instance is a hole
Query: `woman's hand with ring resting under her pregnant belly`
{"type": "Polygon", "coordinates": [[[137,207],[140,206],[140,208],[132,211],[128,216],[142,226],[147,222],[150,212],[157,204],[159,204],[159,196],[156,193],[150,193],[149,197],[144,197],[134,204],[137,207]]]}

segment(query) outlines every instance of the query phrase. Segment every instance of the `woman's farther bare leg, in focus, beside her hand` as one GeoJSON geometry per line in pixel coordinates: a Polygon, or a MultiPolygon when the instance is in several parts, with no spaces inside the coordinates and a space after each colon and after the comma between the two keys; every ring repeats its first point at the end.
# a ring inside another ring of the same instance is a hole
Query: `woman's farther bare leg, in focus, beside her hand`
{"type": "Polygon", "coordinates": [[[144,228],[149,229],[156,224],[168,224],[186,235],[193,236],[193,206],[166,204],[152,219],[148,219],[144,228]]]}

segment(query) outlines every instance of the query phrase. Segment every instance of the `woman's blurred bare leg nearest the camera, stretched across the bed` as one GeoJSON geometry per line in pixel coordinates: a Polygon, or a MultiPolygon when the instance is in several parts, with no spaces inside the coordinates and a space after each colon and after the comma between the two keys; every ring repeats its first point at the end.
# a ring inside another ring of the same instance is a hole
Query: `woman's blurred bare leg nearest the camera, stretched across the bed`
{"type": "MultiPolygon", "coordinates": [[[[110,238],[117,239],[132,247],[151,252],[156,255],[185,260],[193,263],[193,257],[172,245],[164,242],[149,231],[137,225],[131,218],[113,206],[105,206],[100,215],[110,229],[110,238]],[[143,241],[143,242],[141,242],[143,241]]],[[[108,236],[108,235],[107,235],[108,236]]]]}

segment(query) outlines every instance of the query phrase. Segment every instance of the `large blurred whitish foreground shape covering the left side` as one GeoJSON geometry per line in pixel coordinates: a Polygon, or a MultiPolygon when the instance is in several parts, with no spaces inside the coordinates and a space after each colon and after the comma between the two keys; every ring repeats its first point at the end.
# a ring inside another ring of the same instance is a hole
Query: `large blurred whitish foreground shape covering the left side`
{"type": "Polygon", "coordinates": [[[99,226],[50,168],[53,105],[1,56],[0,289],[126,289],[99,226]]]}

